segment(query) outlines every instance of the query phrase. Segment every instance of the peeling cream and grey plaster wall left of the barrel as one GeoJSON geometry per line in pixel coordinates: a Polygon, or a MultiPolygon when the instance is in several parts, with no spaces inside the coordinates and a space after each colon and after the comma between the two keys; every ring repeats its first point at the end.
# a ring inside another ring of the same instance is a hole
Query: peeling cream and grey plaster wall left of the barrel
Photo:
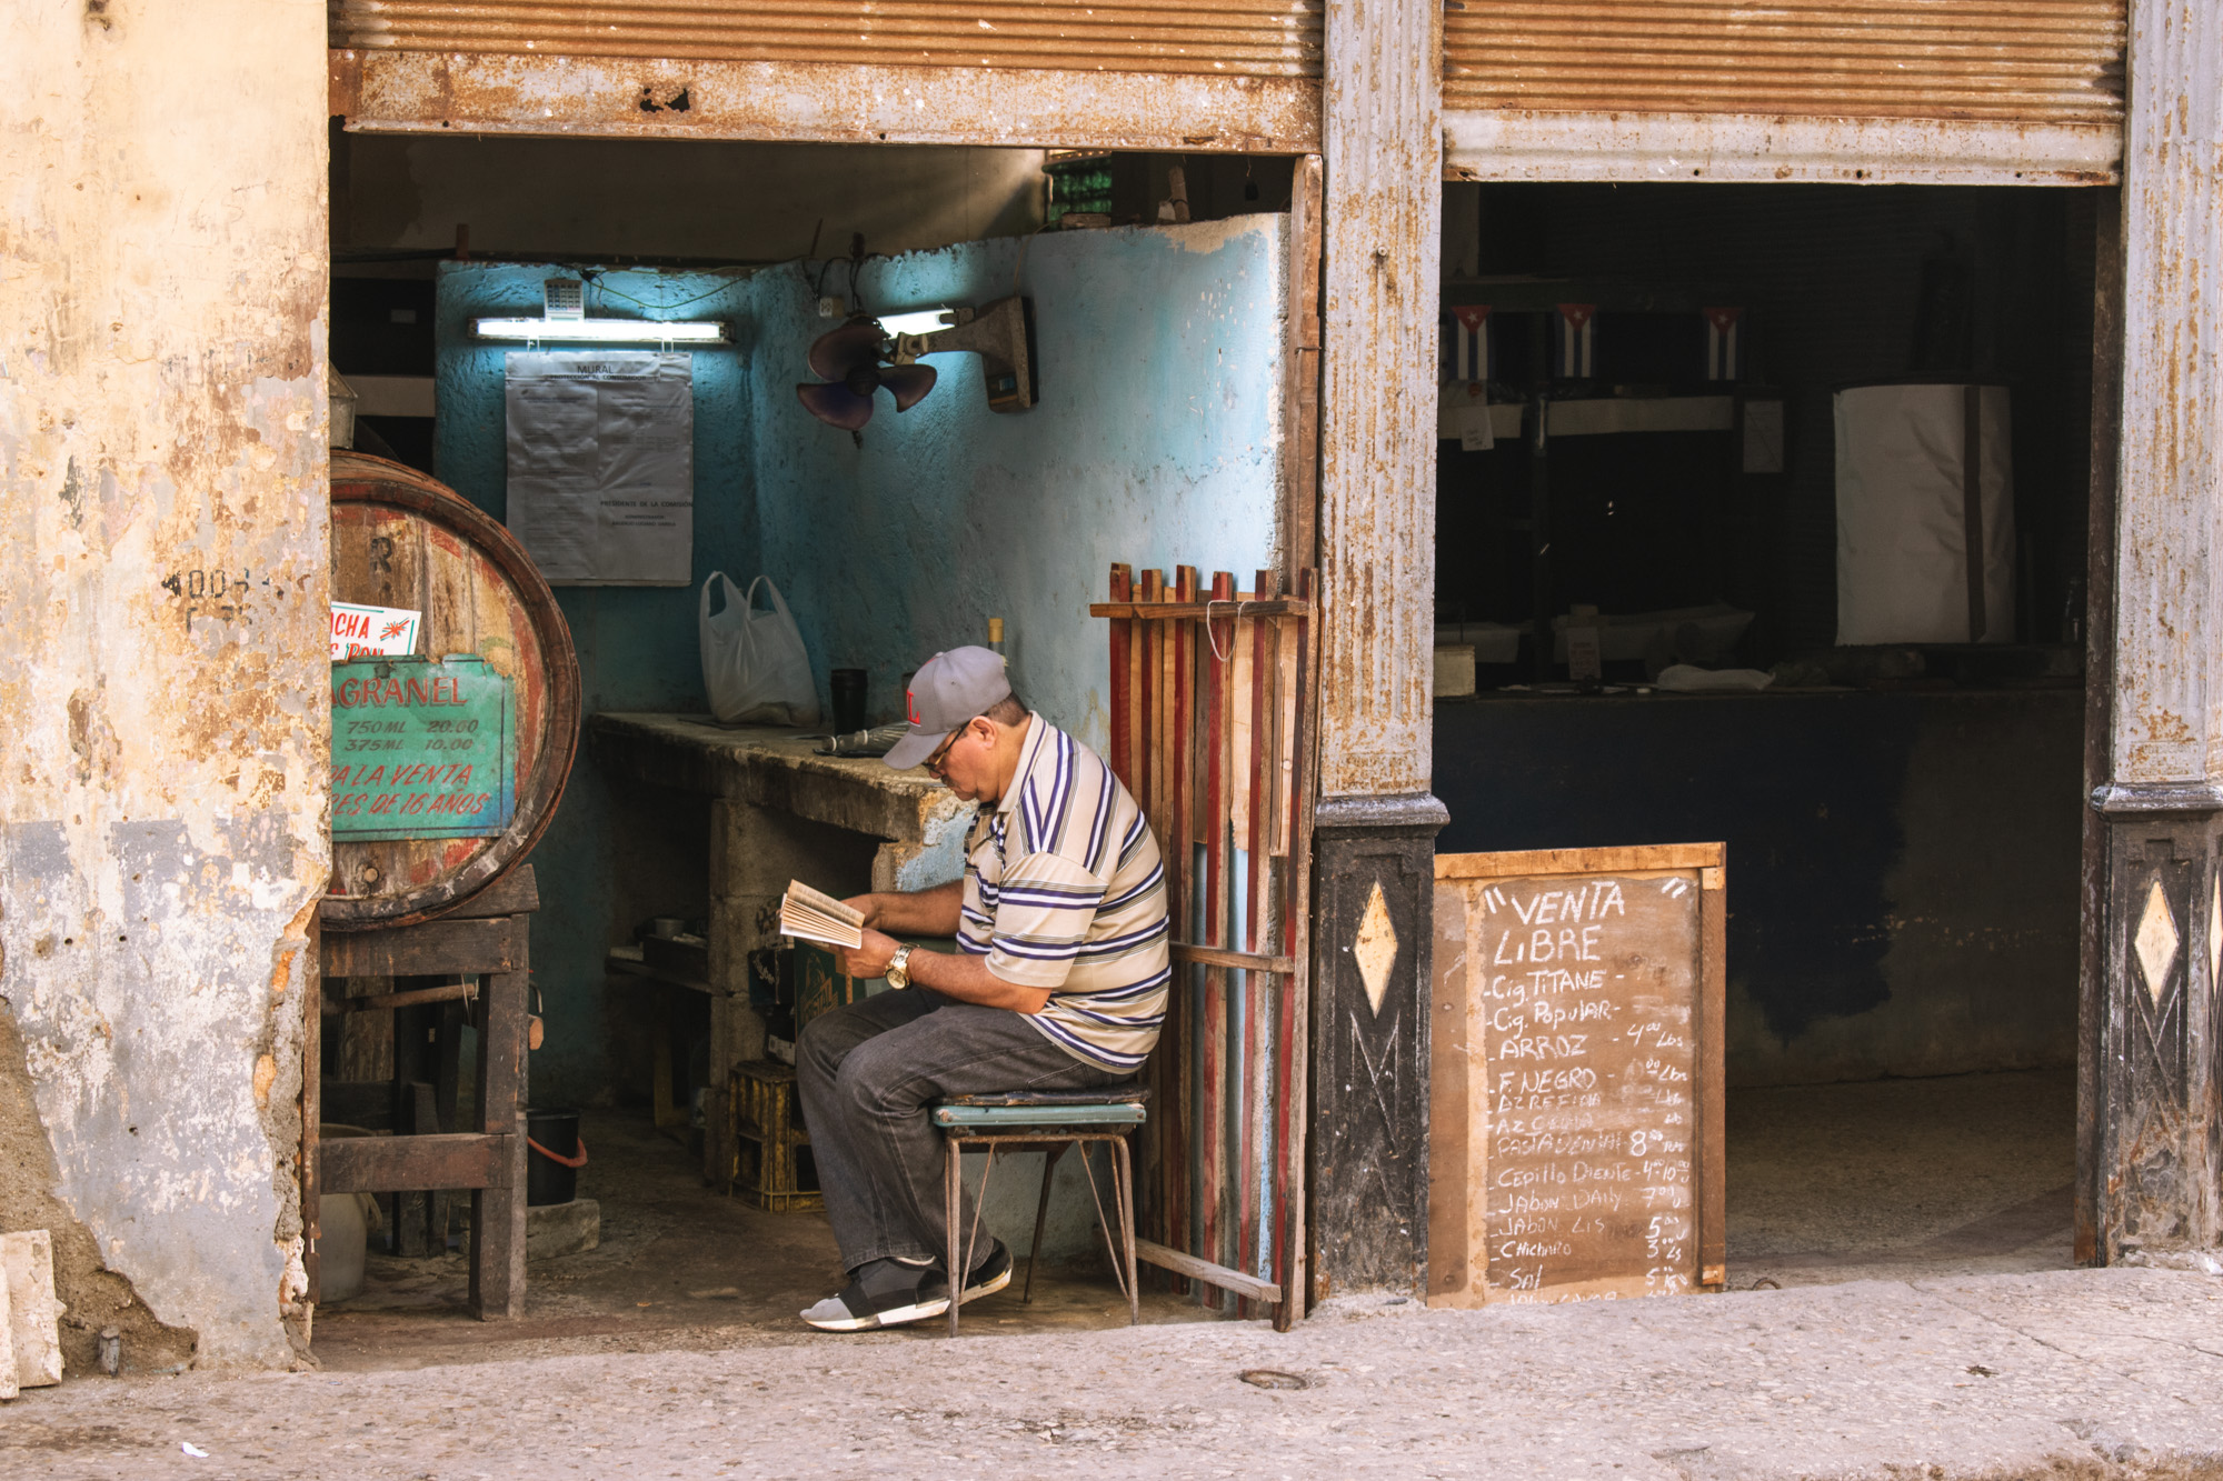
{"type": "Polygon", "coordinates": [[[205,1363],[287,1361],[300,1279],[325,278],[322,4],[0,9],[0,996],[205,1363]]]}

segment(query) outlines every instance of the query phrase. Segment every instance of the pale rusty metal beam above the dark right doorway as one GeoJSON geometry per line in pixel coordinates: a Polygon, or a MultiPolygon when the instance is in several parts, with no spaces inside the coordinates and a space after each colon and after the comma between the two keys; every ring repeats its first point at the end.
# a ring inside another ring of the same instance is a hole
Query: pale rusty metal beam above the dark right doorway
{"type": "Polygon", "coordinates": [[[1445,109],[1445,180],[2116,185],[2123,127],[1445,109]]]}

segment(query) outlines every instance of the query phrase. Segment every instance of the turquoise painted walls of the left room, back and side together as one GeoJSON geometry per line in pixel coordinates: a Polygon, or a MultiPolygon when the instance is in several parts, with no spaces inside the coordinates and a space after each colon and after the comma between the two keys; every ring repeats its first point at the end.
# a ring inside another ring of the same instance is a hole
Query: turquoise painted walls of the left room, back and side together
{"type": "MultiPolygon", "coordinates": [[[[871,672],[874,709],[940,647],[1003,616],[1023,694],[1105,743],[1105,627],[1087,614],[1114,560],[1229,569],[1245,583],[1276,540],[1285,216],[1043,233],[871,262],[874,311],[985,302],[1014,271],[1036,305],[1040,405],[987,409],[976,356],[936,356],[940,385],[907,414],[880,398],[863,447],[796,400],[805,354],[831,329],[800,265],[754,276],[609,274],[627,298],[727,318],[736,347],[696,356],[696,587],[711,569],[769,574],[825,696],[834,667],[871,672]],[[691,302],[689,302],[691,300],[691,302]]],[[[449,265],[440,276],[438,474],[505,511],[502,360],[473,345],[482,314],[536,314],[547,267],[449,265]]],[[[647,316],[591,296],[589,314],[647,316]]],[[[696,592],[558,587],[585,707],[700,712],[696,592]]],[[[549,1043],[540,1103],[609,1094],[602,954],[620,816],[591,758],[534,852],[542,912],[534,981],[549,1043]]]]}

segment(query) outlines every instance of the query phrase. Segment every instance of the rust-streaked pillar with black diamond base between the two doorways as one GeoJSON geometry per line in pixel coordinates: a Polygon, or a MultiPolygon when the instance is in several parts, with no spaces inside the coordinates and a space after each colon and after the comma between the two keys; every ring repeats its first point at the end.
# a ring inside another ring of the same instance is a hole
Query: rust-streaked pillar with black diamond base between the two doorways
{"type": "Polygon", "coordinates": [[[1329,0],[1312,1292],[1427,1281],[1441,0],[1329,0]]]}

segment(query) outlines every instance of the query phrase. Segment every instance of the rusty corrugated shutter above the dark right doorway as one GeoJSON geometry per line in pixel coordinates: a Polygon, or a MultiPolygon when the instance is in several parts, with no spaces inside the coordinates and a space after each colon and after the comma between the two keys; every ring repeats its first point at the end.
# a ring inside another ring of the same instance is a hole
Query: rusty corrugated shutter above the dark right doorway
{"type": "Polygon", "coordinates": [[[2123,0],[1465,0],[1447,109],[2114,122],[2123,0]]]}

